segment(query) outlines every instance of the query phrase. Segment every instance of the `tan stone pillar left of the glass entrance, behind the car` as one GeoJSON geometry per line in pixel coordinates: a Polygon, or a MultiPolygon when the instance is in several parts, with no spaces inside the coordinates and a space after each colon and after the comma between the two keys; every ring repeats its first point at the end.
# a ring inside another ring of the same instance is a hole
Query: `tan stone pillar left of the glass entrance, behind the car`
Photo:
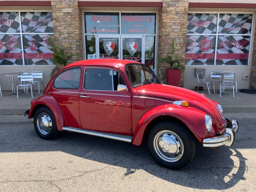
{"type": "Polygon", "coordinates": [[[81,11],[77,0],[52,0],[55,42],[74,53],[71,62],[83,59],[81,11]]]}

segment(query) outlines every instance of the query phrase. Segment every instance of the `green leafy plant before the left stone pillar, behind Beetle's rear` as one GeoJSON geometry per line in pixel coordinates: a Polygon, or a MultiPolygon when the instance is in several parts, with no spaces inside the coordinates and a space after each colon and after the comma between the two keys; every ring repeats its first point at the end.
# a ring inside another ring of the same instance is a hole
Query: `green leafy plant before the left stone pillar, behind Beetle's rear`
{"type": "Polygon", "coordinates": [[[53,38],[50,37],[48,40],[51,50],[53,51],[52,62],[55,64],[55,67],[52,69],[51,76],[54,76],[59,70],[68,65],[68,60],[72,57],[73,53],[68,53],[65,47],[60,47],[55,44],[53,38]]]}

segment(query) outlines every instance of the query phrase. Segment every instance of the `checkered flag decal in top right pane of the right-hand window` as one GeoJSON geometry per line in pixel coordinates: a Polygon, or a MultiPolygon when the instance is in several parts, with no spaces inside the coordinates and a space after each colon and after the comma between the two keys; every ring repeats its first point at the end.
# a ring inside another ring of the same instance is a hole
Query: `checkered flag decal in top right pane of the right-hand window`
{"type": "Polygon", "coordinates": [[[220,34],[251,34],[252,14],[220,14],[220,34]]]}

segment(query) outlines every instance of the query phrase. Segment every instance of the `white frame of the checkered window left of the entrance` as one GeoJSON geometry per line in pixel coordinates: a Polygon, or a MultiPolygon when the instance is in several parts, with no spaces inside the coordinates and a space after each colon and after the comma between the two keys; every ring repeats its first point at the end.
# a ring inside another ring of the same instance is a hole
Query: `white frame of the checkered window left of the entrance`
{"type": "MultiPolygon", "coordinates": [[[[20,23],[20,33],[0,33],[0,35],[20,35],[20,44],[21,44],[21,54],[22,54],[22,65],[4,65],[4,66],[35,66],[35,65],[25,65],[25,57],[24,57],[24,45],[23,45],[23,35],[54,35],[53,33],[22,33],[22,23],[21,23],[21,12],[51,12],[52,10],[1,10],[0,12],[18,12],[19,15],[19,23],[20,23]]],[[[3,65],[0,65],[3,66],[3,65]]],[[[53,65],[36,65],[36,66],[55,66],[53,65]]]]}

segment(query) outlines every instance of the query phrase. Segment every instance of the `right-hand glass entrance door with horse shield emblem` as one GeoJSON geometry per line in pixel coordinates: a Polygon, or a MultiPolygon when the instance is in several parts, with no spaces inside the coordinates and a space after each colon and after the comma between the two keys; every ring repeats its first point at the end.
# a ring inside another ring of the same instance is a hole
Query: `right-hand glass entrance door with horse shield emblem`
{"type": "Polygon", "coordinates": [[[122,59],[145,62],[145,38],[140,36],[122,36],[122,59]]]}

